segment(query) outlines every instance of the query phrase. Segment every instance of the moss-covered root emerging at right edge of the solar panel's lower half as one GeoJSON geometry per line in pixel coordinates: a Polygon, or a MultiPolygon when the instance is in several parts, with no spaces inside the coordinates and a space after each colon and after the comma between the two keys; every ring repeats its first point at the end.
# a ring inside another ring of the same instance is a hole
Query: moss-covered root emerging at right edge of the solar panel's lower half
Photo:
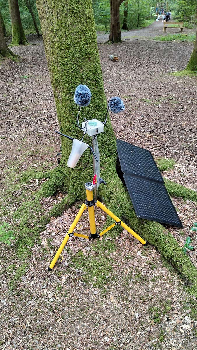
{"type": "Polygon", "coordinates": [[[197,202],[197,192],[164,178],[165,187],[171,196],[197,202]]]}

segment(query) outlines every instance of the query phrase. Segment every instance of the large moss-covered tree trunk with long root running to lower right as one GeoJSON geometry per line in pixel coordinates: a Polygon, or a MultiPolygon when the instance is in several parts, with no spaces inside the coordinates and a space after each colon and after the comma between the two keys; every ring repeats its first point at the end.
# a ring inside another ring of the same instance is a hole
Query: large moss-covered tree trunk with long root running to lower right
{"type": "MultiPolygon", "coordinates": [[[[106,97],[91,0],[36,0],[45,52],[54,91],[60,131],[80,139],[82,132],[76,127],[77,106],[74,92],[79,84],[86,84],[92,93],[91,103],[81,111],[81,119],[104,120],[106,97]]],[[[117,91],[118,94],[118,91],[117,91]]],[[[162,225],[138,219],[128,192],[116,172],[116,140],[108,119],[104,132],[99,135],[101,177],[107,186],[100,185],[101,198],[115,215],[127,222],[145,240],[158,248],[161,254],[192,284],[192,293],[197,296],[197,270],[183,253],[177,241],[162,225]]],[[[90,142],[87,136],[84,142],[90,142]]],[[[84,183],[92,181],[92,159],[83,171],[89,158],[86,151],[74,169],[66,167],[72,148],[70,140],[62,137],[62,158],[60,169],[50,175],[43,185],[42,196],[53,195],[57,189],[68,193],[65,204],[73,200],[84,200],[84,183]],[[73,178],[74,176],[77,176],[73,178]],[[68,199],[68,200],[67,200],[68,199]]],[[[169,187],[170,188],[170,187],[169,187]]],[[[170,191],[169,191],[170,192],[170,191]]]]}

